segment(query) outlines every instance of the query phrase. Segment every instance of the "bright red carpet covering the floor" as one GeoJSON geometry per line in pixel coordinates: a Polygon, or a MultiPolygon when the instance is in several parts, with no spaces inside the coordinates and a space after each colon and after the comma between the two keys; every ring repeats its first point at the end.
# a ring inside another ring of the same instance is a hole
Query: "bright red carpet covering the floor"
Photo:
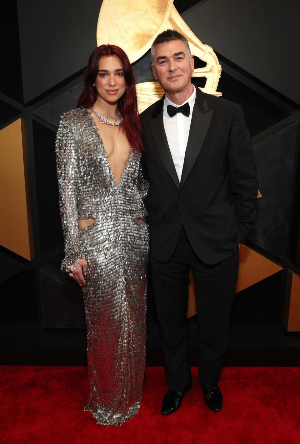
{"type": "Polygon", "coordinates": [[[300,369],[226,367],[224,406],[210,412],[192,369],[193,388],[171,416],[160,414],[164,369],[148,367],[143,403],[125,424],[97,425],[82,406],[86,367],[0,367],[2,444],[300,444],[300,369]]]}

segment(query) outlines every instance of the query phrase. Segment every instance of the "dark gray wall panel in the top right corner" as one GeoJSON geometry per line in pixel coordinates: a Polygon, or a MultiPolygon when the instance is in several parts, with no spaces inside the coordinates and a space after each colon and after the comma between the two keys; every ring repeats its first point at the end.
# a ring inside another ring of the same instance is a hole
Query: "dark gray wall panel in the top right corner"
{"type": "Polygon", "coordinates": [[[203,0],[182,14],[203,43],[296,103],[299,16],[299,0],[203,0]]]}

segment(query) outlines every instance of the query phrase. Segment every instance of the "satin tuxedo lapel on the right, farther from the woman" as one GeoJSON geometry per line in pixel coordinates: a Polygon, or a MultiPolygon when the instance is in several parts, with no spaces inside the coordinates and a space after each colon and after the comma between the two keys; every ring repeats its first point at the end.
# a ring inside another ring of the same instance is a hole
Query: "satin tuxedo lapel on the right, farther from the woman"
{"type": "Polygon", "coordinates": [[[208,127],[210,126],[213,111],[214,110],[208,110],[206,100],[202,98],[201,91],[200,94],[197,91],[196,103],[193,109],[191,127],[187,140],[187,149],[184,156],[180,188],[183,187],[188,175],[191,172],[191,169],[194,166],[197,156],[199,155],[204,139],[206,137],[206,133],[208,131],[208,127]],[[202,100],[200,107],[199,100],[202,100]]]}

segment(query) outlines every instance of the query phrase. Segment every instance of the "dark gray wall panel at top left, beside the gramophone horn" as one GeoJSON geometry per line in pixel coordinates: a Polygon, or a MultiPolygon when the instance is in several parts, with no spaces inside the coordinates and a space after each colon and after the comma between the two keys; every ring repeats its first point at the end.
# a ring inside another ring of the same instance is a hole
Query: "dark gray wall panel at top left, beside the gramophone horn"
{"type": "Polygon", "coordinates": [[[97,47],[101,3],[17,1],[25,103],[86,66],[97,47]]]}

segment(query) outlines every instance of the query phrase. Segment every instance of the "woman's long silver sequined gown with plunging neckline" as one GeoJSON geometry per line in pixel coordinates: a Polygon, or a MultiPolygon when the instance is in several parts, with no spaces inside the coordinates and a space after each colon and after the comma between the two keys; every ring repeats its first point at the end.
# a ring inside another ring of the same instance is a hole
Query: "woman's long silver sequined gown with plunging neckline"
{"type": "Polygon", "coordinates": [[[118,185],[90,112],[62,116],[56,138],[65,259],[88,264],[86,310],[90,396],[85,410],[98,424],[135,416],[145,366],[148,226],[142,198],[147,182],[131,149],[118,185]],[[95,222],[78,230],[78,219],[95,222]]]}

